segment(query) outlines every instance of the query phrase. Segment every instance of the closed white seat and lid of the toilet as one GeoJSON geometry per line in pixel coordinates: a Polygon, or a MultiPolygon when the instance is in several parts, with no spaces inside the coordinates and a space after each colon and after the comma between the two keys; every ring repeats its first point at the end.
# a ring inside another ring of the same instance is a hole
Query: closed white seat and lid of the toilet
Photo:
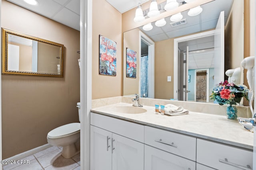
{"type": "Polygon", "coordinates": [[[47,134],[47,137],[49,139],[58,139],[58,138],[74,135],[79,132],[80,132],[80,123],[69,123],[53,129],[47,134]]]}

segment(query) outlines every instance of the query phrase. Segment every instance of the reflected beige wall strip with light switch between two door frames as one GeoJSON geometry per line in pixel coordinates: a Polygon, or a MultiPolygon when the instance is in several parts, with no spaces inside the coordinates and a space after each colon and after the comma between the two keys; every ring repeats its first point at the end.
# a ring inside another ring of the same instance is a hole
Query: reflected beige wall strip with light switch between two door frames
{"type": "Polygon", "coordinates": [[[167,76],[173,79],[173,49],[174,39],[166,39],[155,42],[155,98],[167,99],[173,98],[173,80],[167,82],[167,76]]]}

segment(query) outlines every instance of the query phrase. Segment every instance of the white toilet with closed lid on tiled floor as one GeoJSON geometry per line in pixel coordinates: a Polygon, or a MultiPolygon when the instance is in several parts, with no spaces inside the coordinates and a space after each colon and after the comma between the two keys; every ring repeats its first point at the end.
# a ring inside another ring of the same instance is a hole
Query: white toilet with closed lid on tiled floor
{"type": "MultiPolygon", "coordinates": [[[[77,103],[78,116],[80,121],[80,103],[77,103]]],[[[69,123],[57,127],[47,134],[47,141],[50,145],[63,147],[62,156],[71,158],[80,152],[80,147],[76,146],[80,139],[80,123],[69,123]]]]}

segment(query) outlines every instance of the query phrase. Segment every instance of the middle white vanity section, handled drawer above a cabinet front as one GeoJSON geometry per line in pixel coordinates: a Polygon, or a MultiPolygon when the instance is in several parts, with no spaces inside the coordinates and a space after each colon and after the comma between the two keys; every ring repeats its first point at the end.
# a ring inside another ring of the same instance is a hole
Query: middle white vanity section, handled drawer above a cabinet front
{"type": "Polygon", "coordinates": [[[196,170],[195,137],[145,126],[144,140],[145,170],[196,170]]]}

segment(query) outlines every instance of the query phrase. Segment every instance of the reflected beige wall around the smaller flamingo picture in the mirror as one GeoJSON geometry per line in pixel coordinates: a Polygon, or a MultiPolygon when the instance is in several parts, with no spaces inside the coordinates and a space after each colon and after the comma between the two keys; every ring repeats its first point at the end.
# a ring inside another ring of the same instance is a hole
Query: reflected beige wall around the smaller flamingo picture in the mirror
{"type": "Polygon", "coordinates": [[[131,31],[127,31],[124,33],[124,93],[123,95],[131,95],[131,94],[139,94],[139,81],[140,81],[140,42],[139,42],[139,31],[140,29],[136,28],[131,31]],[[132,49],[137,52],[137,71],[136,78],[127,78],[126,77],[126,48],[132,49]]]}

